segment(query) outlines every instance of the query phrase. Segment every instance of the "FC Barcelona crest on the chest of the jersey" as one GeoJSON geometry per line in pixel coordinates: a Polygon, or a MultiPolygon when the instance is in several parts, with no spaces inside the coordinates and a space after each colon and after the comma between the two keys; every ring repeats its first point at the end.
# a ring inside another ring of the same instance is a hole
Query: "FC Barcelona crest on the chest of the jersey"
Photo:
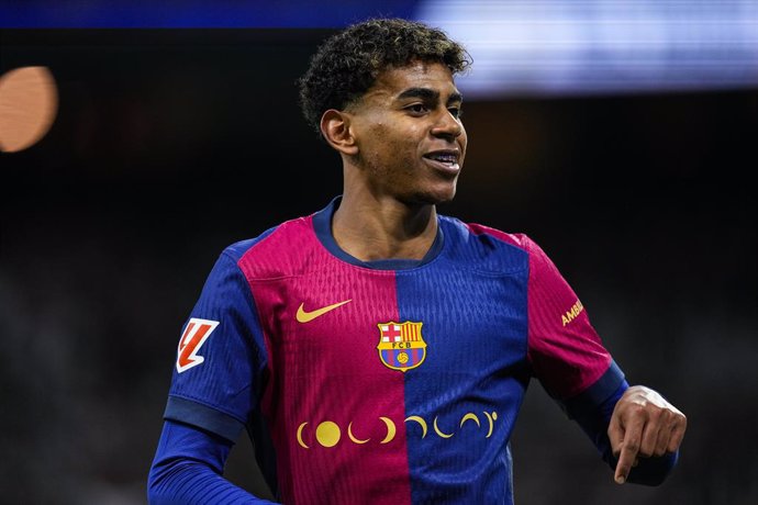
{"type": "Polygon", "coordinates": [[[379,323],[379,359],[387,368],[404,372],[426,358],[426,343],[421,336],[423,323],[379,323]]]}

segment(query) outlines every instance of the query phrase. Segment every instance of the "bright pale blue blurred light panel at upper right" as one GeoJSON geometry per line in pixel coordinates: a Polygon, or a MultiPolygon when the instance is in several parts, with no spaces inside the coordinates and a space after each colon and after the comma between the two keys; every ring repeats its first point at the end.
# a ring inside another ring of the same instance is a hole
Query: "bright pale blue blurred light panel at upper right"
{"type": "Polygon", "coordinates": [[[758,87],[755,0],[426,0],[473,57],[466,98],[758,87]]]}

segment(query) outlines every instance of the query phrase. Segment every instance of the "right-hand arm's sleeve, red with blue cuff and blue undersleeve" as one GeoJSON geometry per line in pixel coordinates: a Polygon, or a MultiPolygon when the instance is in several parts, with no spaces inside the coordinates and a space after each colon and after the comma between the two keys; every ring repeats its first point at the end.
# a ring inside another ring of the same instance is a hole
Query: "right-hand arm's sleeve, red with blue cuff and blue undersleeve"
{"type": "MultiPolygon", "coordinates": [[[[522,239],[530,252],[527,357],[533,373],[615,469],[607,426],[628,383],[556,266],[534,242],[522,239]]],[[[678,456],[642,459],[628,482],[660,484],[678,456]]]]}

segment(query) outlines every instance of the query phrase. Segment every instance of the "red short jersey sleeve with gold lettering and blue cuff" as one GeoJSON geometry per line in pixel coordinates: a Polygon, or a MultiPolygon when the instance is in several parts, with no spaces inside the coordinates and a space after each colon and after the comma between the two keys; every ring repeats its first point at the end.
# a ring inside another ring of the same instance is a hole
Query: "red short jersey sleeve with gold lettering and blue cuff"
{"type": "Polygon", "coordinates": [[[579,395],[601,378],[603,392],[594,394],[613,393],[624,377],[584,305],[539,246],[528,238],[523,245],[530,254],[527,352],[534,374],[559,401],[579,395]]]}

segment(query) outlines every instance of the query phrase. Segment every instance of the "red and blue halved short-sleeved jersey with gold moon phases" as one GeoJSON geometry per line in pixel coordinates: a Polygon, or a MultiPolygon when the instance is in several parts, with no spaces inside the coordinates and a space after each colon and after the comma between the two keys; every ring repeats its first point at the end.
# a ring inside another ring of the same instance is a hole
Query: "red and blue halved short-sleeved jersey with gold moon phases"
{"type": "Polygon", "coordinates": [[[512,503],[530,380],[561,404],[625,384],[587,311],[527,236],[447,216],[424,259],[363,262],[338,202],[221,254],[166,418],[248,430],[288,504],[512,503]]]}

